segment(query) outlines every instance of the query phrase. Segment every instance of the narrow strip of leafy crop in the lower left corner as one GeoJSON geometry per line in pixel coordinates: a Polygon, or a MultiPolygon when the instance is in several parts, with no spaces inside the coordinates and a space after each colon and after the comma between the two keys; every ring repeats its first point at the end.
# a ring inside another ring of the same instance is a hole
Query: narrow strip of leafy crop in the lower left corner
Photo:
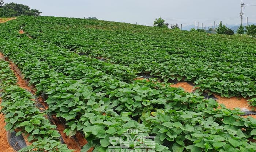
{"type": "Polygon", "coordinates": [[[5,129],[19,129],[16,136],[25,133],[31,145],[19,152],[36,151],[71,152],[67,145],[60,143],[56,126],[51,125],[45,114],[35,107],[33,95],[16,85],[16,77],[8,62],[0,59],[1,113],[5,114],[5,129]]]}

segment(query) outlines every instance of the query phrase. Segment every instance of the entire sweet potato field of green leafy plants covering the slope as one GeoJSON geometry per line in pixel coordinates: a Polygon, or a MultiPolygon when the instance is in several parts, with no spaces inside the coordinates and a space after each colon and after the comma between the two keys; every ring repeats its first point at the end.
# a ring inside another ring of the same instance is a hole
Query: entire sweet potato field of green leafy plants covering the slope
{"type": "MultiPolygon", "coordinates": [[[[88,143],[81,152],[111,151],[109,139],[125,141],[129,129],[154,136],[156,152],[255,152],[256,120],[200,96],[255,101],[255,39],[21,16],[0,24],[0,42],[0,52],[48,106],[40,112],[33,96],[15,85],[7,61],[0,60],[5,128],[19,129],[31,141],[19,152],[72,151],[45,114],[62,118],[67,136],[84,136],[88,143]],[[141,75],[152,78],[138,79],[141,75]],[[194,83],[195,92],[170,87],[172,81],[194,83]]],[[[135,143],[126,146],[139,151],[135,143]]]]}

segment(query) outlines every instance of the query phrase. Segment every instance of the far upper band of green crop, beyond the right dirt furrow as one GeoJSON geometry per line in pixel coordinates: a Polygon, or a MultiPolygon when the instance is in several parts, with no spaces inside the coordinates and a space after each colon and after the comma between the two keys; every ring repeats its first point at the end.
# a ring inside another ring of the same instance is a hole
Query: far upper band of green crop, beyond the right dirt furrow
{"type": "Polygon", "coordinates": [[[22,20],[26,20],[25,31],[33,38],[88,56],[104,57],[107,62],[129,66],[138,74],[150,74],[165,82],[195,82],[198,93],[256,96],[256,47],[247,38],[161,31],[103,21],[52,17],[22,20]]]}

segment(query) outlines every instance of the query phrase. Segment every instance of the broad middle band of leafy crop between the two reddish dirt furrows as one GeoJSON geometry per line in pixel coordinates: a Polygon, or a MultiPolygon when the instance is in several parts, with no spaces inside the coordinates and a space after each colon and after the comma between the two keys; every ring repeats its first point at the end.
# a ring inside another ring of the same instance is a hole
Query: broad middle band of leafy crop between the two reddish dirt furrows
{"type": "MultiPolygon", "coordinates": [[[[1,29],[4,28],[11,27],[1,29]]],[[[10,31],[15,33],[14,30],[10,31]]],[[[70,65],[60,67],[59,71],[53,65],[63,56],[51,58],[52,61],[41,58],[39,40],[0,32],[4,33],[0,36],[0,50],[18,65],[38,93],[48,95],[49,113],[67,121],[64,132],[68,136],[83,132],[89,141],[84,152],[90,147],[95,147],[95,152],[108,151],[108,146],[114,144],[109,137],[119,137],[131,128],[140,129],[144,136],[156,136],[155,151],[242,152],[256,148],[248,140],[255,138],[256,120],[239,116],[239,109],[226,109],[215,100],[204,100],[168,83],[124,82],[115,74],[113,77],[100,70],[95,74],[95,69],[88,66],[81,68],[92,74],[76,78],[65,70],[70,65]]],[[[44,52],[56,55],[57,48],[44,52]]],[[[133,144],[127,146],[134,148],[133,144]]]]}

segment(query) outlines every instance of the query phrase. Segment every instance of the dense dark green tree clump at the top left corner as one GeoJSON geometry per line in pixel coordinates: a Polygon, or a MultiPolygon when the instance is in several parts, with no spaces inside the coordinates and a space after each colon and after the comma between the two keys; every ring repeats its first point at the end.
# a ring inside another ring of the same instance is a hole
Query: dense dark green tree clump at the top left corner
{"type": "Polygon", "coordinates": [[[29,6],[17,3],[4,3],[0,0],[0,17],[15,17],[20,15],[39,16],[38,9],[30,9],[29,6]]]}

